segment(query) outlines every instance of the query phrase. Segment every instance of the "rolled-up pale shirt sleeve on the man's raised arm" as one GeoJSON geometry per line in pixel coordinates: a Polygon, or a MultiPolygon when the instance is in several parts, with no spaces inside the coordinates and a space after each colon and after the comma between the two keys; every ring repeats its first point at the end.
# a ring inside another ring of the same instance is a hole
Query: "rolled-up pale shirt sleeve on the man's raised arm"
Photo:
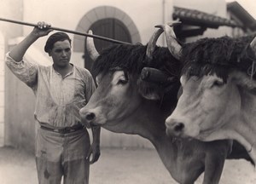
{"type": "Polygon", "coordinates": [[[32,62],[20,60],[15,61],[10,57],[9,53],[6,54],[6,65],[11,72],[15,74],[22,82],[26,83],[31,88],[34,88],[38,83],[38,65],[32,62]]]}

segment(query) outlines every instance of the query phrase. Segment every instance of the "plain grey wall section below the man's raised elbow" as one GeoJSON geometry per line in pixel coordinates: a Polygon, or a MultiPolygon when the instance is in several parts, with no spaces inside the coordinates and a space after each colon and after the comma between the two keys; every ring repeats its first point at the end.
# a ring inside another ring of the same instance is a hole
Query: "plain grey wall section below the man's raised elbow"
{"type": "Polygon", "coordinates": [[[34,150],[34,94],[6,68],[5,145],[34,150]]]}

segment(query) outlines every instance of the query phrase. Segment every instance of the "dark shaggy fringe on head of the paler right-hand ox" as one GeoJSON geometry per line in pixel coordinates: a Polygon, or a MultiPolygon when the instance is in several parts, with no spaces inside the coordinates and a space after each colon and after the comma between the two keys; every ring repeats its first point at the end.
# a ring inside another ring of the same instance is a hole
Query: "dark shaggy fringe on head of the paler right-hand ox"
{"type": "Polygon", "coordinates": [[[253,37],[218,37],[187,43],[182,49],[182,74],[188,77],[216,74],[224,81],[234,69],[250,75],[256,60],[249,47],[252,40],[253,37]]]}

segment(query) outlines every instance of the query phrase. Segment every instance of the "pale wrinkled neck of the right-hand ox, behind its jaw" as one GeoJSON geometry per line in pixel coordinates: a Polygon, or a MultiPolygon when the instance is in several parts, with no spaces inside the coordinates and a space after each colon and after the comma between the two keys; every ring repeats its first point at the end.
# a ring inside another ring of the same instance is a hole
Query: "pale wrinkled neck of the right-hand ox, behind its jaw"
{"type": "Polygon", "coordinates": [[[229,124],[213,132],[206,141],[234,139],[239,141],[256,163],[256,97],[253,93],[240,89],[241,106],[229,124]]]}

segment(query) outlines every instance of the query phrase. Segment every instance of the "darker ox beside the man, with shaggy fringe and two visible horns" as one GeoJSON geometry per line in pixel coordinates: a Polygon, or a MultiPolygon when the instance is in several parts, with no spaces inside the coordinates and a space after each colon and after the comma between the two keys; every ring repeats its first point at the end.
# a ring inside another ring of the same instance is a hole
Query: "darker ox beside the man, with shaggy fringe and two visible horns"
{"type": "Polygon", "coordinates": [[[236,154],[229,154],[232,141],[202,142],[166,135],[165,119],[177,104],[181,64],[167,48],[155,46],[159,35],[154,34],[148,47],[113,45],[100,55],[91,47],[92,38],[87,37],[98,87],[80,110],[82,122],[148,139],[179,183],[194,183],[204,171],[203,183],[218,183],[227,155],[239,158],[247,152],[234,144],[236,154]],[[141,72],[146,66],[168,73],[173,77],[171,84],[166,88],[164,84],[143,81],[141,72]]]}

